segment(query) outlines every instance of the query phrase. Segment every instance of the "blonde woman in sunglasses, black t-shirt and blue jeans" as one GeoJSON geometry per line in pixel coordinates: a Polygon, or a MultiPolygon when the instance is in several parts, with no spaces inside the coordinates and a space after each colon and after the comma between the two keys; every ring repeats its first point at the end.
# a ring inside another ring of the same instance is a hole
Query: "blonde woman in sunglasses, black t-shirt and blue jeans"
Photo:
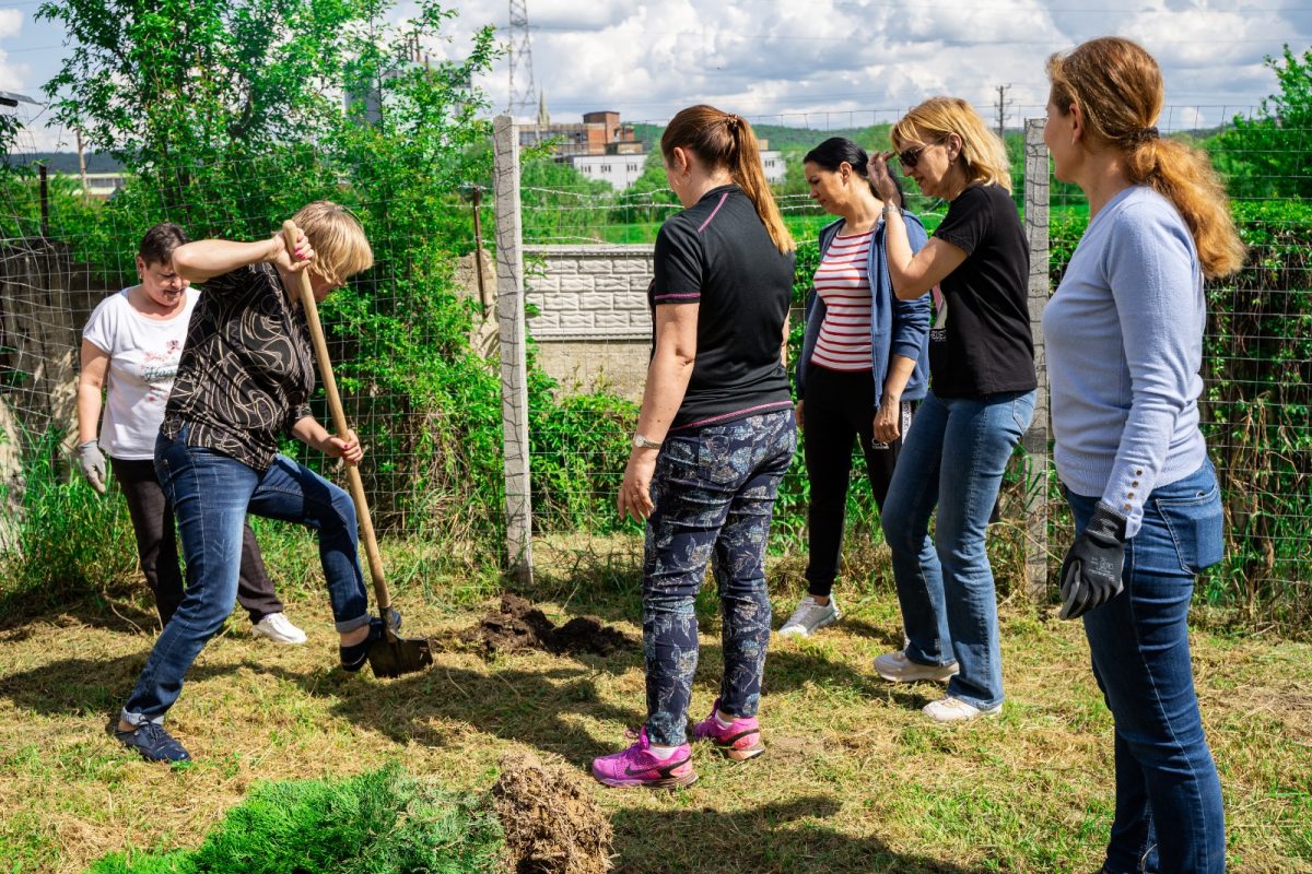
{"type": "Polygon", "coordinates": [[[907,645],[876,658],[875,671],[893,683],[947,680],[947,694],[925,713],[955,722],[1002,709],[985,535],[1008,459],[1034,415],[1030,256],[1006,149],[966,101],[933,97],[899,121],[891,138],[921,191],[949,206],[929,242],[913,250],[887,166],[891,153],[870,162],[884,202],[893,291],[907,300],[938,288],[930,390],[883,512],[907,645]]]}

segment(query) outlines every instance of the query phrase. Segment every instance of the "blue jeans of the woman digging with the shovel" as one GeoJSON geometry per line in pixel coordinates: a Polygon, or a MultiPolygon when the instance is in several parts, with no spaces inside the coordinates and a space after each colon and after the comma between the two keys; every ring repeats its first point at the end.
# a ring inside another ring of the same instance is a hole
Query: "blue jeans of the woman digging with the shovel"
{"type": "Polygon", "coordinates": [[[185,428],[176,440],[163,434],[156,439],[155,470],[177,518],[186,592],[123,706],[125,722],[164,721],[192,662],[232,612],[248,510],[315,529],[337,630],[369,624],[349,494],[283,455],[260,473],[219,452],[189,447],[185,428]]]}

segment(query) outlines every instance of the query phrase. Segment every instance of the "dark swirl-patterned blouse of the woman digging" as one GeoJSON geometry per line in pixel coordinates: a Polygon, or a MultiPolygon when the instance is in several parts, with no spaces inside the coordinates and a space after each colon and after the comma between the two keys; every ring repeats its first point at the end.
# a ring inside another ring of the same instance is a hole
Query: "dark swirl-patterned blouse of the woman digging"
{"type": "Polygon", "coordinates": [[[261,473],[278,436],[310,415],[315,388],[310,329],[268,263],[205,283],[160,431],[232,456],[261,473]]]}

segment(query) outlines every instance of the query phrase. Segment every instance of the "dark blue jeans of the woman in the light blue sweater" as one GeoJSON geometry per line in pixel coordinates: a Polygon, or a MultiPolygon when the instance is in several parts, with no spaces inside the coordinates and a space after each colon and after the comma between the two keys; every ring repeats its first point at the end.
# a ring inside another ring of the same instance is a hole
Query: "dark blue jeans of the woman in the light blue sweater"
{"type": "MultiPolygon", "coordinates": [[[[1076,532],[1097,497],[1067,491],[1076,532]]],[[[1084,616],[1093,675],[1115,721],[1117,816],[1106,870],[1225,870],[1225,816],[1189,656],[1194,575],[1221,560],[1221,501],[1207,461],[1153,489],[1126,544],[1124,591],[1084,616]]]]}

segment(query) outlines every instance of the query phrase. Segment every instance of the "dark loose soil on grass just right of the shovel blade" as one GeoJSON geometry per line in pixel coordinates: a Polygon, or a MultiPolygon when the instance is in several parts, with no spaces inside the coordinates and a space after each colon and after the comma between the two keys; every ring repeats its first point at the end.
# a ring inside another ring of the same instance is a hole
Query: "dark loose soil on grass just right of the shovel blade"
{"type": "Polygon", "coordinates": [[[628,642],[619,629],[604,625],[594,616],[576,616],[556,626],[530,601],[510,594],[501,596],[500,612],[484,616],[478,625],[463,632],[461,639],[480,647],[485,655],[523,650],[556,655],[610,655],[628,642]]]}

